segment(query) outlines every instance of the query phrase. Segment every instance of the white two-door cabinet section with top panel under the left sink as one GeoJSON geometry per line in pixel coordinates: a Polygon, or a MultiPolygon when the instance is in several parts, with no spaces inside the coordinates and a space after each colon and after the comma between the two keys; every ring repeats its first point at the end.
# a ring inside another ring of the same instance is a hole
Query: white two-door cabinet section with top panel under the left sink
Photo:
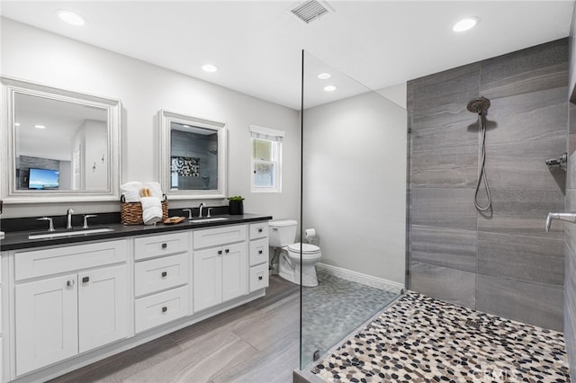
{"type": "Polygon", "coordinates": [[[16,252],[16,376],[128,335],[128,242],[16,252]]]}

